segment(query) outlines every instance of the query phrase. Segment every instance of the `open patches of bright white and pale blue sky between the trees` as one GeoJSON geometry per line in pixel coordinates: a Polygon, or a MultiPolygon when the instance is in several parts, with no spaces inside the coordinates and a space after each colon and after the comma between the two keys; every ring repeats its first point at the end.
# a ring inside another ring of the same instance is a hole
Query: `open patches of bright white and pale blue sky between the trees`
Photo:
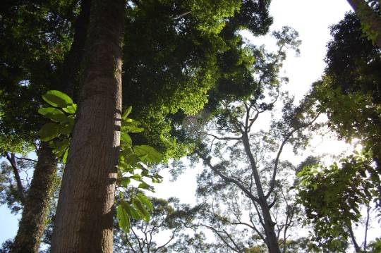
{"type": "MultiPolygon", "coordinates": [[[[325,45],[330,39],[329,25],[338,23],[349,10],[350,6],[346,0],[272,1],[270,13],[274,18],[274,24],[270,29],[280,30],[284,25],[293,27],[299,32],[302,40],[301,55],[295,58],[294,54],[289,54],[284,63],[284,74],[289,77],[288,90],[295,92],[296,100],[301,99],[310,84],[321,77],[325,68],[325,45]]],[[[255,42],[266,46],[269,43],[270,48],[272,47],[268,38],[259,38],[255,42]]],[[[338,147],[328,143],[320,149],[334,152],[338,147]]],[[[158,197],[181,197],[181,201],[185,203],[194,202],[194,194],[195,171],[181,175],[174,183],[157,187],[158,197]],[[182,190],[184,183],[190,185],[186,190],[182,190]]],[[[5,205],[0,206],[0,244],[16,235],[19,217],[10,214],[5,205]]]]}

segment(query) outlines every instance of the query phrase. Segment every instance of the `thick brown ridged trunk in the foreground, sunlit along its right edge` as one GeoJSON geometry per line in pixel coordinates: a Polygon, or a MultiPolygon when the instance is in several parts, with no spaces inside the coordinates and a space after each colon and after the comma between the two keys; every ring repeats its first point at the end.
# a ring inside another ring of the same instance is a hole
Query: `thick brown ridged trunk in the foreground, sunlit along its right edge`
{"type": "Polygon", "coordinates": [[[63,173],[52,252],[112,252],[121,128],[125,2],[92,2],[83,87],[63,173]]]}

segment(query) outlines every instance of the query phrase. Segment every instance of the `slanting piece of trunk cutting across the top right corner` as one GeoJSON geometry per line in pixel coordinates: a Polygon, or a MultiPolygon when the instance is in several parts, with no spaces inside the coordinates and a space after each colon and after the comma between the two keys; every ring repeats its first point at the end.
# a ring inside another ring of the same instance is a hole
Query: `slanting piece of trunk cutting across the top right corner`
{"type": "Polygon", "coordinates": [[[349,5],[356,12],[361,23],[370,25],[370,30],[375,32],[375,42],[381,48],[381,17],[377,14],[365,0],[347,0],[349,5]]]}

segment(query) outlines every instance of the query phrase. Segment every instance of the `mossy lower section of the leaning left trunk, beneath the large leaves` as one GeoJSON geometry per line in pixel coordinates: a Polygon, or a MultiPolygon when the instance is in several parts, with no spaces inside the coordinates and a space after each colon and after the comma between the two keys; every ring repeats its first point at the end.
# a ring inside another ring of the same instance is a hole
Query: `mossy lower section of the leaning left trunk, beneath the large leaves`
{"type": "Polygon", "coordinates": [[[38,252],[44,233],[57,167],[47,142],[40,145],[38,157],[11,252],[38,252]]]}

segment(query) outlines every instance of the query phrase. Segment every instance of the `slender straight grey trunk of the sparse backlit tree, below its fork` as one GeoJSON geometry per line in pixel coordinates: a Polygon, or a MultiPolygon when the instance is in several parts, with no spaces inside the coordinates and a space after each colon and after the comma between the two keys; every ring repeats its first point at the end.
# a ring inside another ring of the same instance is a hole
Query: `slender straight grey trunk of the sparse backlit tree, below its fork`
{"type": "Polygon", "coordinates": [[[266,233],[267,247],[270,253],[280,253],[279,242],[277,234],[275,233],[275,223],[272,221],[270,214],[270,206],[267,204],[265,193],[263,192],[262,183],[260,182],[260,175],[255,163],[253,153],[251,153],[250,143],[248,140],[248,133],[242,132],[243,147],[245,147],[246,155],[250,161],[250,167],[253,171],[255,186],[257,187],[258,199],[260,202],[260,209],[262,211],[263,225],[266,233]]]}

